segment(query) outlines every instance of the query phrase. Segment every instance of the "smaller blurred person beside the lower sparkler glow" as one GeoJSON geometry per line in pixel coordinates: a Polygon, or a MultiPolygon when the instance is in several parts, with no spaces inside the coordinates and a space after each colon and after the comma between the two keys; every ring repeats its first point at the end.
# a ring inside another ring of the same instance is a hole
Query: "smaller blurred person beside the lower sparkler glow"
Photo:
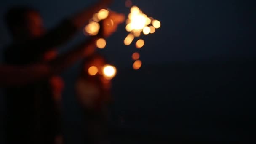
{"type": "Polygon", "coordinates": [[[111,80],[102,74],[106,64],[105,58],[99,53],[85,58],[75,84],[77,100],[83,111],[82,128],[86,144],[108,142],[108,106],[112,99],[111,80]]]}

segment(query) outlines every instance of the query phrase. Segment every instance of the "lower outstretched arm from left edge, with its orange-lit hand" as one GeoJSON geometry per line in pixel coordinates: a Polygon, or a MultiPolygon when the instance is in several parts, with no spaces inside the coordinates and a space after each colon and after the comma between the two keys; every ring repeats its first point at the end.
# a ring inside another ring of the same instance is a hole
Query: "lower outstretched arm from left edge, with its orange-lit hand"
{"type": "MultiPolygon", "coordinates": [[[[112,13],[105,21],[112,19],[114,25],[109,27],[107,22],[103,23],[105,37],[111,35],[117,29],[118,24],[124,21],[122,14],[112,13]]],[[[0,86],[26,85],[57,74],[70,67],[76,61],[89,56],[95,51],[95,40],[99,36],[91,37],[89,40],[76,45],[72,51],[62,54],[46,64],[35,64],[27,67],[0,66],[0,86]]]]}

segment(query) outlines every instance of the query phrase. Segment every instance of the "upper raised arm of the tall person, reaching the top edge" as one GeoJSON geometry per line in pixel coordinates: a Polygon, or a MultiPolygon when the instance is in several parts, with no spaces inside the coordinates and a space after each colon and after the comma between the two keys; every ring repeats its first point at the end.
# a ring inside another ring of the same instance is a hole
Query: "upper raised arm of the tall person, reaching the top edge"
{"type": "MultiPolygon", "coordinates": [[[[42,37],[19,43],[19,45],[16,45],[19,49],[14,51],[16,51],[16,53],[38,56],[52,48],[67,43],[78,30],[85,26],[94,13],[102,8],[107,8],[111,2],[112,0],[100,0],[92,6],[83,9],[81,12],[61,21],[61,23],[45,33],[42,37]]],[[[11,51],[11,53],[13,53],[13,51],[11,51]]]]}

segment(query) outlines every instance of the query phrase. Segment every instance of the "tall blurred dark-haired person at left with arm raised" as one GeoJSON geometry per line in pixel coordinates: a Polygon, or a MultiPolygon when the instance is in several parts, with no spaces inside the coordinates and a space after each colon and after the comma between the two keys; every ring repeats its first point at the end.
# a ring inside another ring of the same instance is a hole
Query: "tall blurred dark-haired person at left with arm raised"
{"type": "MultiPolygon", "coordinates": [[[[95,40],[101,36],[108,37],[123,22],[124,16],[110,13],[102,23],[102,35],[91,37],[77,45],[69,59],[56,59],[56,47],[66,43],[101,8],[106,8],[111,0],[101,0],[88,9],[62,21],[57,27],[46,32],[40,14],[31,8],[15,7],[8,11],[6,20],[13,34],[14,43],[5,50],[5,63],[12,66],[28,67],[53,61],[53,64],[64,61],[55,71],[72,64],[81,55],[89,56],[95,47],[95,40]],[[108,21],[114,25],[109,26],[108,21]],[[83,51],[85,48],[85,51],[83,51]]],[[[63,56],[62,56],[63,57],[63,56]]],[[[28,79],[32,76],[27,75],[28,79]]],[[[33,81],[33,80],[31,80],[33,81]]],[[[64,84],[60,77],[51,75],[21,86],[6,88],[8,122],[7,142],[13,143],[55,143],[59,138],[60,121],[56,104],[61,99],[64,84]]]]}

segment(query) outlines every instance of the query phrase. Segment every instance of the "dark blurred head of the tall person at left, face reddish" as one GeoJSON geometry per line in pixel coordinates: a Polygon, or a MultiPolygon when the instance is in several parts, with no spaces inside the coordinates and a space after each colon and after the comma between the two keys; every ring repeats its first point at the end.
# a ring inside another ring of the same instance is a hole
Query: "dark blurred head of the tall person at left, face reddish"
{"type": "Polygon", "coordinates": [[[15,40],[26,40],[43,35],[43,19],[33,8],[16,6],[5,15],[7,26],[15,40]]]}

